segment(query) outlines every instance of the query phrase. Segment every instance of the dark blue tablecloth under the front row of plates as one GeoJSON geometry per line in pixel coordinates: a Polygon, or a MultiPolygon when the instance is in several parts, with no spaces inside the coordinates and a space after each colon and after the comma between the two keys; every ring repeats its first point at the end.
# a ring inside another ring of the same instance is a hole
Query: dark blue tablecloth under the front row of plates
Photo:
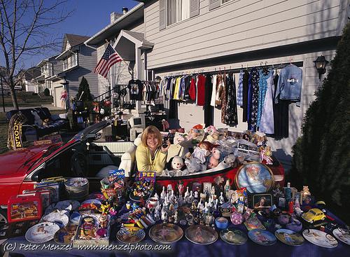
{"type": "MultiPolygon", "coordinates": [[[[331,214],[328,211],[328,215],[332,216],[332,218],[335,218],[335,221],[339,225],[344,226],[345,224],[340,221],[336,216],[331,214]]],[[[235,227],[237,229],[243,230],[244,232],[247,232],[244,225],[230,225],[231,227],[235,227]]],[[[183,230],[185,230],[186,227],[183,227],[183,230]]],[[[118,228],[112,230],[111,232],[111,242],[114,245],[122,245],[118,240],[116,239],[116,231],[118,228]]],[[[217,230],[220,232],[220,230],[217,230]]],[[[272,230],[273,232],[273,230],[272,230]]],[[[153,245],[155,246],[156,243],[153,242],[153,240],[148,236],[148,230],[146,230],[146,238],[139,243],[139,245],[153,245]]],[[[287,244],[283,244],[282,242],[279,242],[277,240],[276,244],[273,246],[260,246],[258,244],[255,244],[250,239],[246,242],[246,244],[243,244],[241,246],[234,246],[231,244],[227,244],[223,242],[223,240],[219,237],[218,240],[214,244],[209,245],[198,245],[193,244],[192,242],[188,241],[185,236],[179,241],[174,244],[171,244],[172,250],[166,250],[166,251],[132,251],[130,253],[130,250],[125,251],[116,251],[116,250],[110,250],[110,251],[87,251],[87,250],[78,250],[78,249],[69,249],[69,250],[61,250],[61,251],[49,251],[49,250],[43,250],[43,251],[32,251],[32,250],[24,250],[25,245],[29,245],[29,242],[25,239],[25,237],[14,237],[8,239],[6,242],[3,242],[1,245],[1,249],[3,249],[3,246],[8,247],[9,246],[15,247],[13,251],[10,251],[10,256],[14,254],[14,256],[18,256],[16,254],[20,253],[22,256],[179,256],[179,257],[188,257],[188,256],[195,256],[195,257],[210,257],[210,256],[279,256],[279,257],[288,257],[288,256],[295,256],[295,257],[309,257],[309,256],[350,256],[350,246],[337,240],[338,246],[332,249],[323,248],[321,246],[316,246],[314,244],[311,244],[307,240],[305,240],[304,244],[302,246],[288,246],[287,244]],[[22,244],[22,245],[21,245],[22,244]],[[22,246],[22,249],[20,249],[20,246],[22,246]]],[[[47,242],[45,246],[48,245],[55,245],[55,242],[51,240],[50,242],[47,242]]],[[[42,244],[36,244],[38,246],[38,249],[42,249],[42,244]]],[[[124,244],[123,244],[124,246],[124,244]]],[[[127,247],[127,246],[124,246],[127,247]]]]}

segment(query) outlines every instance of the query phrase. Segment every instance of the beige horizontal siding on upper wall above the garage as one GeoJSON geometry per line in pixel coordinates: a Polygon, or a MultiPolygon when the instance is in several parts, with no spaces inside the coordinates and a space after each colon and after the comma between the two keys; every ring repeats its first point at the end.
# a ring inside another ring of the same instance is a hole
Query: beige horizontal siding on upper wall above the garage
{"type": "Polygon", "coordinates": [[[162,30],[155,24],[160,2],[146,7],[146,39],[155,43],[148,69],[342,33],[340,0],[232,0],[213,11],[209,1],[200,1],[200,15],[162,30]]]}

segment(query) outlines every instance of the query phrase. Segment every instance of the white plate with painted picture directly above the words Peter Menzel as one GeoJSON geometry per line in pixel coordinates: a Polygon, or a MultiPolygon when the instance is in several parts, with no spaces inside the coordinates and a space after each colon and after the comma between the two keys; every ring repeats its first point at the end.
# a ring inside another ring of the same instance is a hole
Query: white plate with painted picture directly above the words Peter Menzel
{"type": "Polygon", "coordinates": [[[25,233],[25,239],[33,244],[41,244],[50,241],[55,236],[59,226],[52,222],[38,223],[25,233]]]}

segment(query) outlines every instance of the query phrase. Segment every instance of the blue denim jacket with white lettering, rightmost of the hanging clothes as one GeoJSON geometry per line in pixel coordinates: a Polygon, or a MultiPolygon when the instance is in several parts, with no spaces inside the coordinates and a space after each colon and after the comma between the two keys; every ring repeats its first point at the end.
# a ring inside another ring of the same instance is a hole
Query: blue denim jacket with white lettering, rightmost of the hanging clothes
{"type": "Polygon", "coordinates": [[[297,102],[300,106],[300,96],[302,92],[302,69],[294,64],[289,64],[281,69],[279,83],[276,89],[274,102],[278,104],[279,99],[297,102]]]}

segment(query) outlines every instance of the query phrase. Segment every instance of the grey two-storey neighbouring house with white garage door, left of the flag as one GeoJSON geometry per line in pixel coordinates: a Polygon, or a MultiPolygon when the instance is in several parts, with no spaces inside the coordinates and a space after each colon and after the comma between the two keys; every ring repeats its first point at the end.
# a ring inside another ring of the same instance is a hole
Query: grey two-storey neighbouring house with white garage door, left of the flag
{"type": "MultiPolygon", "coordinates": [[[[98,95],[97,74],[93,72],[97,65],[97,53],[96,50],[83,44],[89,38],[73,34],[64,35],[62,52],[55,58],[59,62],[54,64],[54,73],[48,78],[52,87],[54,105],[57,107],[66,108],[61,101],[64,90],[69,100],[76,97],[83,76],[89,83],[91,94],[98,95]]],[[[69,105],[69,102],[66,101],[66,104],[69,105]]]]}

